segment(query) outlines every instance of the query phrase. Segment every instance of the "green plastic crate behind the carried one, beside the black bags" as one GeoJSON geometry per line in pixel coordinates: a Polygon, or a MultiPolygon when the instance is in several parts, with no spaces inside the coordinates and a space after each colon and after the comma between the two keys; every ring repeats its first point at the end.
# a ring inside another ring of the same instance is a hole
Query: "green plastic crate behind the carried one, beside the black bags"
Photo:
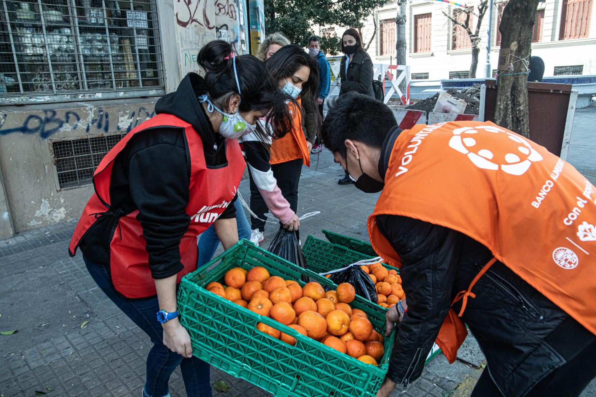
{"type": "MultiPolygon", "coordinates": [[[[315,273],[336,270],[358,261],[377,257],[377,255],[363,254],[343,245],[329,243],[313,236],[306,237],[306,241],[302,245],[302,253],[305,256],[306,265],[315,273]]],[[[383,266],[387,270],[393,269],[399,274],[398,268],[387,264],[383,264],[383,266]]]]}

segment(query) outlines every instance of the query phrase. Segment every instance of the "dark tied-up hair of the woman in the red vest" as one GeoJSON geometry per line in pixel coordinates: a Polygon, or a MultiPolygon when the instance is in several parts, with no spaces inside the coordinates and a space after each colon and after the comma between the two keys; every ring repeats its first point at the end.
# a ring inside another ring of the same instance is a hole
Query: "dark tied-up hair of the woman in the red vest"
{"type": "MultiPolygon", "coordinates": [[[[226,110],[231,96],[238,92],[234,74],[232,46],[224,40],[213,40],[198,52],[197,63],[207,72],[205,81],[209,97],[226,110]]],[[[280,92],[277,80],[268,73],[263,62],[253,55],[233,54],[236,62],[238,84],[240,85],[240,111],[266,111],[267,123],[274,126],[275,137],[282,137],[291,131],[291,115],[285,105],[285,95],[280,92]]],[[[260,123],[257,132],[263,137],[260,123]]]]}

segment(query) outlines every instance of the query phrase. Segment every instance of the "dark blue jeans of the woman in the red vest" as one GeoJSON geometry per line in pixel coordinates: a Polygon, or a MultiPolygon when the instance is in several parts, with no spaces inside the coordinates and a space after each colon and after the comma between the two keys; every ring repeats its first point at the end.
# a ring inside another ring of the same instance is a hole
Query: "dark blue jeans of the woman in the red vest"
{"type": "Polygon", "coordinates": [[[182,379],[189,397],[212,397],[210,387],[210,365],[197,357],[184,358],[170,351],[163,344],[162,324],[157,321],[159,311],[157,296],[148,299],[127,299],[119,295],[110,283],[109,268],[95,263],[83,255],[89,274],[105,295],[141,328],[153,342],[147,356],[147,380],[143,387],[143,397],[170,397],[167,383],[170,375],[180,365],[182,379]]]}

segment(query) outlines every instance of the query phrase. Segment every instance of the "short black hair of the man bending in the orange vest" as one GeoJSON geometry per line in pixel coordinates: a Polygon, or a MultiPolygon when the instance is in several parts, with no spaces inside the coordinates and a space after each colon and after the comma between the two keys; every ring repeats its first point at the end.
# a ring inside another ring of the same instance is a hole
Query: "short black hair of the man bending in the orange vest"
{"type": "Polygon", "coordinates": [[[393,112],[383,102],[350,91],[330,103],[321,136],[327,149],[346,158],[346,139],[380,149],[387,133],[397,124],[393,112]]]}

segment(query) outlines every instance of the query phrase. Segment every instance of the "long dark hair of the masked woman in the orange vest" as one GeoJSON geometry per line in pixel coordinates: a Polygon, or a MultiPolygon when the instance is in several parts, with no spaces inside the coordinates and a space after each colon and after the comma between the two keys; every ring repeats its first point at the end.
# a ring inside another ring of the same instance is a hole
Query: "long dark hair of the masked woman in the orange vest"
{"type": "Polygon", "coordinates": [[[317,111],[318,104],[316,103],[316,98],[319,95],[319,64],[316,59],[308,55],[298,45],[290,44],[283,46],[271,55],[271,58],[265,61],[265,66],[275,82],[293,76],[302,66],[308,66],[311,69],[308,81],[302,85],[300,98],[301,101],[311,102],[311,108],[315,110],[312,112],[312,117],[315,118],[315,124],[320,126],[321,115],[317,111]]]}

